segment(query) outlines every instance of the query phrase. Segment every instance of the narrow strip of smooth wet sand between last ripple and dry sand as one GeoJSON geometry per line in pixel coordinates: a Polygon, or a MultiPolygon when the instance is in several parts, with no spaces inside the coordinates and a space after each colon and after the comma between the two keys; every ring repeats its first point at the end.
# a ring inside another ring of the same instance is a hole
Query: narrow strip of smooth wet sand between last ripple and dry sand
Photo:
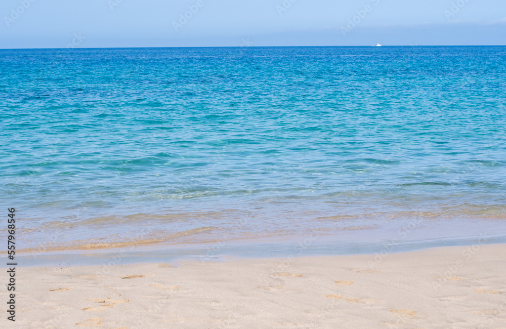
{"type": "MultiPolygon", "coordinates": [[[[332,238],[332,236],[327,236],[332,238]]],[[[222,262],[247,259],[276,259],[304,257],[372,256],[387,258],[391,254],[431,250],[435,248],[472,246],[482,244],[505,244],[506,236],[480,233],[476,236],[433,240],[384,240],[373,242],[334,242],[322,236],[309,236],[278,242],[266,240],[213,241],[210,243],[170,245],[130,245],[125,248],[102,250],[59,250],[20,253],[16,257],[18,267],[69,267],[103,266],[113,260],[116,265],[145,264],[198,260],[222,262]],[[161,248],[163,247],[163,248],[161,248]]],[[[3,266],[5,267],[5,265],[3,266]]]]}

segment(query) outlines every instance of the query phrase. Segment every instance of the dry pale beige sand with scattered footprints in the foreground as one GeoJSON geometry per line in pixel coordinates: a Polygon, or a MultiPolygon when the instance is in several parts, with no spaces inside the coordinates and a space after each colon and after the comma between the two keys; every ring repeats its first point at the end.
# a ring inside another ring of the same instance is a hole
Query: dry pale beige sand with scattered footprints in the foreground
{"type": "Polygon", "coordinates": [[[23,328],[504,328],[504,255],[506,244],[493,244],[385,256],[17,268],[16,322],[10,326],[6,312],[0,322],[23,328]]]}

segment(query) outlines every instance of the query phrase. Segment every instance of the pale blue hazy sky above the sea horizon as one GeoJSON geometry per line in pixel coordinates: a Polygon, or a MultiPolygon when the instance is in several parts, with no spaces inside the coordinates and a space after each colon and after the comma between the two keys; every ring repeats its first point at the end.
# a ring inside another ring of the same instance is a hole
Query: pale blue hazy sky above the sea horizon
{"type": "Polygon", "coordinates": [[[504,0],[2,0],[0,48],[506,45],[504,0]]]}

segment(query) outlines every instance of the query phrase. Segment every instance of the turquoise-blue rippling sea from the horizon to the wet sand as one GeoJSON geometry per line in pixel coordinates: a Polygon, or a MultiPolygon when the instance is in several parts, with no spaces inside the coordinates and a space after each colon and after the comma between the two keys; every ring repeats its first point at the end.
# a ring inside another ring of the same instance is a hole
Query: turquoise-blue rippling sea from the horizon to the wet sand
{"type": "Polygon", "coordinates": [[[0,73],[18,248],[506,236],[506,47],[0,50],[0,73]]]}

